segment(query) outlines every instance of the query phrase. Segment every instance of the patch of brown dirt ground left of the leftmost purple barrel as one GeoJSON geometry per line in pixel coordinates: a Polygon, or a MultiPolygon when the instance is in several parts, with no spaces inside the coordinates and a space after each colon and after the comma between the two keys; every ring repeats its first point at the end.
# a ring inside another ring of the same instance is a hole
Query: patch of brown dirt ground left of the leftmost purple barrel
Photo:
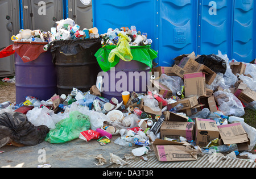
{"type": "Polygon", "coordinates": [[[16,102],[16,88],[15,84],[0,85],[0,103],[10,101],[16,102]]]}

